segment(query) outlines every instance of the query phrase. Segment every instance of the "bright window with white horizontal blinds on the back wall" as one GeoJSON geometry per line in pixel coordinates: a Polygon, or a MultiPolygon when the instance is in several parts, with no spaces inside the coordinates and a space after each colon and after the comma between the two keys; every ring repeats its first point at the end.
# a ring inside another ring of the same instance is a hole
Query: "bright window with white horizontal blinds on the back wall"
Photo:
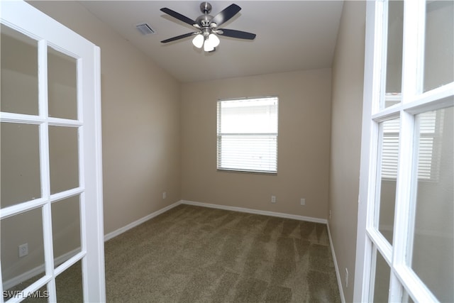
{"type": "Polygon", "coordinates": [[[277,173],[277,97],[218,100],[217,168],[277,173]]]}

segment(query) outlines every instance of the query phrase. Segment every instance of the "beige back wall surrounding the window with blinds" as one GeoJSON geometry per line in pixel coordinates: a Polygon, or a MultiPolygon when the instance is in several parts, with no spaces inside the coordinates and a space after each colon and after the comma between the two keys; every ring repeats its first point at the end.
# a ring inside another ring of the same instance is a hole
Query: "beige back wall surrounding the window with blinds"
{"type": "Polygon", "coordinates": [[[183,84],[182,199],[326,219],[330,87],[331,69],[183,84]],[[277,175],[217,172],[216,101],[269,95],[279,97],[277,175]]]}

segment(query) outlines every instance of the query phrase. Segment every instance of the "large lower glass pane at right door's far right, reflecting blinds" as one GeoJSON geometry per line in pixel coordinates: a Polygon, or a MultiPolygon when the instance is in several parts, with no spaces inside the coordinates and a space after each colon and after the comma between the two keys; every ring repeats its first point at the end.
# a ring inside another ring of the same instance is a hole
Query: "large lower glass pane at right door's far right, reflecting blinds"
{"type": "Polygon", "coordinates": [[[453,107],[419,114],[416,119],[419,179],[411,268],[437,299],[454,302],[453,107]],[[433,131],[424,127],[428,117],[435,117],[433,131]],[[427,167],[431,169],[430,178],[421,178],[421,171],[426,172],[427,167]]]}

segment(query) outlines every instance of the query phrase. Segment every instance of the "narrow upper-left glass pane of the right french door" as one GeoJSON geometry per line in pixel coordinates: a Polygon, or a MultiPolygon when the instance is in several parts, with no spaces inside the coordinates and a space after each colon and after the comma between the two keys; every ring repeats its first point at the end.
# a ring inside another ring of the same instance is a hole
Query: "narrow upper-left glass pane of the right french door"
{"type": "Polygon", "coordinates": [[[388,2],[386,89],[382,108],[401,101],[404,1],[388,2]]]}

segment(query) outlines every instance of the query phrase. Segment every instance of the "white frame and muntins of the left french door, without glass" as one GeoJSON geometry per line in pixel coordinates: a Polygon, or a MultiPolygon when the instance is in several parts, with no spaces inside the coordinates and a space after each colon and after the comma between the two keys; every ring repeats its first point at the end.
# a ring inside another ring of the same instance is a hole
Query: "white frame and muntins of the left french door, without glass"
{"type": "MultiPolygon", "coordinates": [[[[45,13],[35,9],[25,1],[0,1],[0,21],[13,30],[24,33],[34,40],[38,40],[38,52],[52,48],[62,50],[77,57],[78,70],[78,119],[77,121],[64,121],[62,125],[74,125],[79,127],[79,174],[83,177],[79,184],[80,217],[81,217],[81,251],[67,260],[57,269],[54,268],[52,250],[52,217],[50,192],[45,189],[47,182],[41,182],[42,198],[31,202],[8,206],[0,211],[1,219],[5,219],[23,211],[42,207],[43,211],[43,240],[45,246],[45,277],[33,283],[26,291],[38,290],[43,285],[50,285],[53,289],[49,292],[50,301],[55,301],[55,277],[66,270],[78,260],[82,260],[82,285],[84,301],[105,302],[105,274],[104,274],[104,218],[103,218],[103,192],[102,192],[102,148],[101,148],[101,60],[100,48],[89,42],[82,36],[74,33],[69,28],[58,23],[45,13]],[[72,53],[76,50],[76,53],[72,53]],[[82,71],[79,71],[82,70],[82,71]],[[82,77],[83,75],[83,77],[82,77]],[[79,83],[80,81],[80,83],[79,83]],[[82,101],[81,101],[82,100],[82,101]],[[81,119],[82,117],[82,119],[81,119]],[[80,130],[82,129],[82,136],[80,130]],[[80,154],[82,152],[82,155],[80,154]],[[43,201],[46,200],[46,201],[43,201]]],[[[40,112],[38,116],[25,116],[21,114],[1,113],[1,121],[18,122],[25,118],[24,123],[39,124],[47,129],[50,123],[59,123],[58,119],[48,117],[47,108],[43,106],[43,100],[47,104],[47,65],[45,55],[38,56],[40,64],[39,99],[40,112]],[[44,73],[44,74],[42,74],[44,73]],[[23,116],[23,117],[21,117],[23,116]]],[[[41,128],[43,129],[43,128],[41,128]]],[[[47,133],[40,131],[40,145],[47,144],[47,133]]],[[[48,159],[43,157],[40,148],[41,165],[47,166],[48,159]]],[[[48,171],[41,172],[41,175],[48,171]]],[[[80,176],[80,175],[79,175],[80,176]]],[[[77,192],[76,190],[76,192],[77,192]]],[[[67,191],[67,192],[71,192],[67,191]]],[[[72,193],[74,194],[74,193],[72,193]]],[[[55,195],[54,195],[55,196],[55,195]]],[[[62,195],[62,197],[65,194],[62,195]]],[[[53,198],[54,200],[57,197],[53,198]]],[[[1,266],[1,264],[0,264],[1,266]]],[[[1,271],[0,271],[1,278],[1,271]]],[[[3,285],[0,286],[3,293],[3,285]]],[[[4,302],[3,295],[0,302],[4,302]]]]}

